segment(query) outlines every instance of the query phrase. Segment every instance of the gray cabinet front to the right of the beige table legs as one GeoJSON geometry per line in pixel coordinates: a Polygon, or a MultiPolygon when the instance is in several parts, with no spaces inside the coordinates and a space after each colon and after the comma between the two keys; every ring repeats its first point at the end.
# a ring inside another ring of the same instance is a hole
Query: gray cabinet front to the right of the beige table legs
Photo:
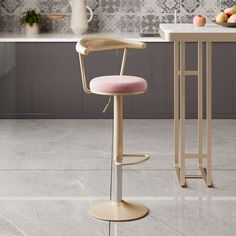
{"type": "Polygon", "coordinates": [[[235,118],[235,43],[213,44],[212,112],[215,118],[235,118]]]}

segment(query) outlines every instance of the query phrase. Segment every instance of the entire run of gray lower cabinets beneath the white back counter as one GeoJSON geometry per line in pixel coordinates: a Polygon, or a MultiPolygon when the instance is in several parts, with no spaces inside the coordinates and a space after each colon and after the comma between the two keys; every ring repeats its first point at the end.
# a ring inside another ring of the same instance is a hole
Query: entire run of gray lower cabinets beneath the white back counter
{"type": "MultiPolygon", "coordinates": [[[[213,45],[213,117],[236,118],[236,45],[213,45]]],[[[1,118],[108,118],[108,98],[84,94],[75,43],[0,44],[1,118]]],[[[196,45],[187,45],[188,69],[196,69],[196,45]]],[[[122,52],[91,53],[87,77],[119,73],[122,52]]],[[[130,50],[126,74],[148,80],[147,94],[125,98],[127,118],[173,117],[173,44],[130,50]]],[[[187,116],[197,114],[197,80],[187,79],[187,116]]]]}

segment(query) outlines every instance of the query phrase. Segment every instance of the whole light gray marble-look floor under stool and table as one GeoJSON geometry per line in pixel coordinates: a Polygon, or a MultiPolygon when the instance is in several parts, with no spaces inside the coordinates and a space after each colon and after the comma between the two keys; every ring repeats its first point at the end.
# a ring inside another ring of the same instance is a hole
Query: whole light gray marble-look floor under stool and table
{"type": "MultiPolygon", "coordinates": [[[[213,121],[214,188],[203,180],[179,187],[172,120],[125,124],[125,150],[152,156],[124,171],[125,199],[151,211],[139,221],[109,224],[87,209],[109,199],[111,120],[1,120],[0,236],[236,235],[236,120],[213,121]]],[[[195,124],[187,121],[191,150],[195,124]]]]}

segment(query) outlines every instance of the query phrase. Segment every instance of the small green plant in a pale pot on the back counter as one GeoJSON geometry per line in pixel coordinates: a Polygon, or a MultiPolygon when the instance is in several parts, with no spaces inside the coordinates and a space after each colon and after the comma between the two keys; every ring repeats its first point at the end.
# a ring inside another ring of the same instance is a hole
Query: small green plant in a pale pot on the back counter
{"type": "Polygon", "coordinates": [[[21,17],[21,24],[25,27],[27,35],[39,33],[39,26],[42,24],[42,16],[35,10],[27,10],[21,17]]]}

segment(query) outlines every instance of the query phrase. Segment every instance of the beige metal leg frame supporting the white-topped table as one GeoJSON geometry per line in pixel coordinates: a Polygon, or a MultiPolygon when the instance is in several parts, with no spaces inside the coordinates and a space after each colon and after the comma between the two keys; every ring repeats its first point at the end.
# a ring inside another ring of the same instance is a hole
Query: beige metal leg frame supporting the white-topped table
{"type": "Polygon", "coordinates": [[[198,71],[185,69],[185,42],[174,44],[174,140],[175,140],[175,169],[180,186],[186,185],[186,179],[203,178],[207,186],[212,186],[212,44],[206,43],[206,147],[203,153],[203,43],[198,43],[198,71]],[[180,53],[179,53],[180,52],[180,53]],[[185,152],[185,82],[186,75],[198,76],[198,152],[185,152]],[[185,160],[198,158],[201,175],[187,175],[185,173],[185,160]],[[207,160],[204,167],[203,158],[207,160]]]}

